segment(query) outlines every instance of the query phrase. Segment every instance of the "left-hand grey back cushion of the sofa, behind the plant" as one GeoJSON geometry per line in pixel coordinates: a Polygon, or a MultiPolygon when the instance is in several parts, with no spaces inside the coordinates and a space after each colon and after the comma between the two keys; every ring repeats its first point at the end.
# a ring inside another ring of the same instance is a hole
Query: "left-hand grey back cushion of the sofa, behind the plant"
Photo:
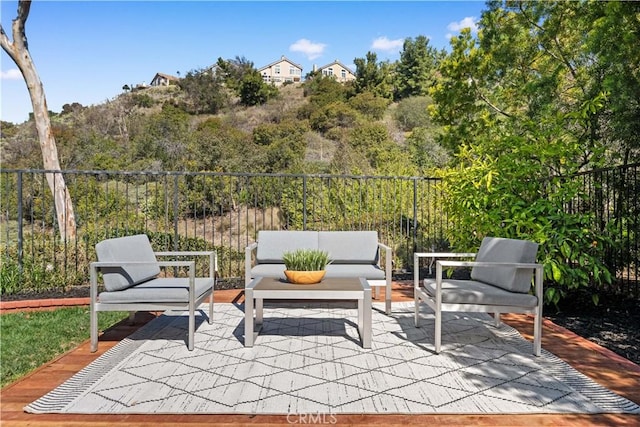
{"type": "Polygon", "coordinates": [[[318,249],[317,231],[271,231],[258,232],[256,260],[261,264],[281,264],[284,252],[296,249],[318,249]]]}

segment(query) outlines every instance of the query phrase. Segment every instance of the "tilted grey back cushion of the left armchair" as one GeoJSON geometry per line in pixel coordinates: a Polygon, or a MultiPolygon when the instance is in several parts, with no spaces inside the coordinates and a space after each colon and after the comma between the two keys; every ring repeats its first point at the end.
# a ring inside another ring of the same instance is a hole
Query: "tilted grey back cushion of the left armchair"
{"type": "Polygon", "coordinates": [[[158,261],[146,234],[107,239],[96,245],[98,261],[118,262],[122,267],[101,268],[107,291],[121,291],[153,279],[160,273],[158,261]],[[147,262],[132,265],[127,261],[147,262]]]}

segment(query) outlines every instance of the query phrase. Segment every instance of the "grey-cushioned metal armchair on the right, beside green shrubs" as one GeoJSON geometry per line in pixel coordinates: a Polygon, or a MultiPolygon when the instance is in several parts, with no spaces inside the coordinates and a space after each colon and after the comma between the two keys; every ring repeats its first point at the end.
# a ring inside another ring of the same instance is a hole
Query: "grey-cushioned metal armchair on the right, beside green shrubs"
{"type": "Polygon", "coordinates": [[[533,352],[540,356],[542,339],[542,264],[536,263],[538,244],[526,240],[485,237],[472,261],[436,261],[435,279],[419,280],[420,258],[457,258],[474,254],[414,253],[415,325],[420,304],[435,311],[435,351],[440,353],[443,311],[488,312],[496,326],[500,313],[534,315],[533,352]],[[470,280],[442,277],[443,267],[472,267],[470,280]],[[534,293],[531,293],[532,277],[534,293]]]}

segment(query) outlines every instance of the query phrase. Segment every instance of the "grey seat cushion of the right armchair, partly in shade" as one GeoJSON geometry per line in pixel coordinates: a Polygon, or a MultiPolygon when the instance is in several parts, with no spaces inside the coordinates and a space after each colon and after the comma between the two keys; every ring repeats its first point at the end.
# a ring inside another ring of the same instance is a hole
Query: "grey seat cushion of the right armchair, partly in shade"
{"type": "MultiPolygon", "coordinates": [[[[435,298],[435,279],[424,279],[424,288],[435,298]]],[[[443,280],[442,302],[448,304],[515,305],[533,308],[538,299],[535,295],[510,292],[476,280],[443,280]]]]}

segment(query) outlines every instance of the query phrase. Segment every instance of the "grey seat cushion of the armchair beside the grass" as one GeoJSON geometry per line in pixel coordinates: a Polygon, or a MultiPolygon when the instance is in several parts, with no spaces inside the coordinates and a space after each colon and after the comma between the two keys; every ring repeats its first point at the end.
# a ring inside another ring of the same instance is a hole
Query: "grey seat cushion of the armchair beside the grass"
{"type": "MultiPolygon", "coordinates": [[[[195,278],[195,298],[210,292],[213,279],[195,278]]],[[[159,277],[136,286],[116,292],[101,292],[98,296],[101,304],[144,304],[144,303],[189,303],[189,278],[159,277]]]]}

